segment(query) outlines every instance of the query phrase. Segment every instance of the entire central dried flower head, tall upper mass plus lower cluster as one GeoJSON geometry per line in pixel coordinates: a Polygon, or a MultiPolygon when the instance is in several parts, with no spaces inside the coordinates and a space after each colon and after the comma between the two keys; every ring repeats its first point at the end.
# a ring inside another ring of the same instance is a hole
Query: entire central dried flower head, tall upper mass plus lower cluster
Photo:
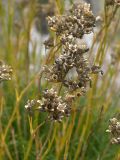
{"type": "MultiPolygon", "coordinates": [[[[66,88],[67,95],[63,98],[53,88],[46,89],[41,100],[29,100],[25,108],[30,112],[47,112],[48,119],[61,121],[63,117],[70,115],[75,96],[86,92],[88,82],[92,81],[91,74],[102,73],[99,66],[89,65],[84,56],[89,48],[80,42],[84,34],[93,32],[96,19],[90,4],[81,2],[74,4],[68,14],[48,17],[47,20],[50,29],[56,33],[62,53],[55,58],[52,66],[43,67],[45,79],[61,83],[66,88]],[[67,78],[72,69],[77,72],[76,80],[67,78]],[[78,94],[71,94],[78,89],[78,94]]],[[[50,38],[44,44],[46,49],[54,47],[54,39],[50,38]]]]}

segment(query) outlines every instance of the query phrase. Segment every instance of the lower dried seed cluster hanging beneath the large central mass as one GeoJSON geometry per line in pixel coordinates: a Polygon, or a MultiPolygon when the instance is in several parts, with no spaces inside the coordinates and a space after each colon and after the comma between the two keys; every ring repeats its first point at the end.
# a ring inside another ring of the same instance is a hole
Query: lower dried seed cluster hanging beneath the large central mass
{"type": "Polygon", "coordinates": [[[33,112],[35,110],[39,110],[41,112],[48,113],[48,119],[61,121],[62,118],[68,117],[71,112],[71,106],[68,102],[67,95],[64,99],[61,96],[57,95],[57,92],[51,88],[50,90],[46,89],[43,92],[43,97],[41,100],[28,100],[25,108],[29,112],[33,112]]]}

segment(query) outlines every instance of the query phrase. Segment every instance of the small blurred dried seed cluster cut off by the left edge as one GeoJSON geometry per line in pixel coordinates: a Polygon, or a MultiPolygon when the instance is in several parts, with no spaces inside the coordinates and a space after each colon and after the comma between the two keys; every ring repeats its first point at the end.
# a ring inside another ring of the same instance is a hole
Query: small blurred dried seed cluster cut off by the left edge
{"type": "Polygon", "coordinates": [[[0,83],[2,81],[11,80],[12,71],[11,66],[4,65],[0,62],[0,83]]]}

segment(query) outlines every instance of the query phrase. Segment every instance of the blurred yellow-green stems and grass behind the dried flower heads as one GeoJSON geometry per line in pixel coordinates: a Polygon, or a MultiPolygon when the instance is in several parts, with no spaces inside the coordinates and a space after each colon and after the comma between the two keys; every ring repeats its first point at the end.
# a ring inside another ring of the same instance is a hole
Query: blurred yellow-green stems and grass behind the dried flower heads
{"type": "Polygon", "coordinates": [[[92,77],[92,88],[74,103],[71,117],[43,123],[45,114],[30,118],[24,108],[52,86],[43,80],[40,87],[38,76],[54,55],[42,45],[48,34],[54,37],[45,17],[63,14],[73,2],[0,0],[0,59],[13,68],[12,80],[0,84],[1,160],[120,160],[120,146],[111,145],[106,133],[109,119],[120,113],[119,8],[104,7],[100,13],[88,56],[104,75],[92,77]]]}

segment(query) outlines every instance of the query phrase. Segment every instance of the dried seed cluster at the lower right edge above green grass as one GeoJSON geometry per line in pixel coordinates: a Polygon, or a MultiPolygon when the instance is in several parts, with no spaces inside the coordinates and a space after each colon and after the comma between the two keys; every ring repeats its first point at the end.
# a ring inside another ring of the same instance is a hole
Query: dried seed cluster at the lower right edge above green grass
{"type": "Polygon", "coordinates": [[[110,124],[106,132],[111,133],[111,143],[120,144],[120,122],[116,118],[112,118],[109,123],[110,124]]]}

